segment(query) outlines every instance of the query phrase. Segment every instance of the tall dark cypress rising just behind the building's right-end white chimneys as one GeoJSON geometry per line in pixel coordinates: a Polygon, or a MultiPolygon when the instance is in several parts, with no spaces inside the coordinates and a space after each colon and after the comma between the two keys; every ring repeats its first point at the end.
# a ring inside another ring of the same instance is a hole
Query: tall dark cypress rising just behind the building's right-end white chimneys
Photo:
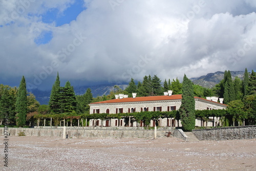
{"type": "Polygon", "coordinates": [[[236,100],[235,93],[234,93],[234,85],[233,85],[231,73],[229,70],[227,71],[227,74],[224,75],[224,83],[225,83],[225,86],[224,86],[223,97],[224,97],[225,104],[228,104],[229,102],[236,100]]]}

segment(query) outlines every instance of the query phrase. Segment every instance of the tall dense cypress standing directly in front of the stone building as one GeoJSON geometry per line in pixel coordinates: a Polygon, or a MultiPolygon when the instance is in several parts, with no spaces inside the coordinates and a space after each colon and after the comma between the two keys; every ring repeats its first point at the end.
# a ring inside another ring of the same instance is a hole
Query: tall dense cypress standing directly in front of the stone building
{"type": "Polygon", "coordinates": [[[179,109],[184,131],[191,131],[195,128],[195,99],[193,83],[184,75],[182,83],[182,100],[179,109]]]}

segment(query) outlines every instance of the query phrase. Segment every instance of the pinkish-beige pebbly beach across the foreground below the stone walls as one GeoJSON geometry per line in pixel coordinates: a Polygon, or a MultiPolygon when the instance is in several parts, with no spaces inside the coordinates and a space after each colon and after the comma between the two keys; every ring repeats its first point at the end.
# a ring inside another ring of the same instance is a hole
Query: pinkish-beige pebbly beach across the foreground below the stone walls
{"type": "Polygon", "coordinates": [[[256,170],[256,139],[9,137],[8,168],[1,163],[0,170],[256,170]]]}

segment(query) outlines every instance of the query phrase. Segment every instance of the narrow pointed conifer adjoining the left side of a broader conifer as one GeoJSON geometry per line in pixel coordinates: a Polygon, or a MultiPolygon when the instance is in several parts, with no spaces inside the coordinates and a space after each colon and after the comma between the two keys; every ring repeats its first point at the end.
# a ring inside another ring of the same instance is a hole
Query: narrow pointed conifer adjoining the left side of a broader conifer
{"type": "Polygon", "coordinates": [[[60,89],[60,81],[59,81],[59,73],[57,72],[56,81],[52,86],[52,91],[51,91],[50,101],[49,101],[49,106],[53,111],[59,108],[59,103],[57,99],[57,94],[59,92],[59,89],[60,89]]]}

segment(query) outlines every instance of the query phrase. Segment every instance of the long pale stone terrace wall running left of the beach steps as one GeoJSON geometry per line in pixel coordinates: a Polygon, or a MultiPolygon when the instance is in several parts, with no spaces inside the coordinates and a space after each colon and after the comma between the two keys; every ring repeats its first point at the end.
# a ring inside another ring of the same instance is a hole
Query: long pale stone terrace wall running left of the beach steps
{"type": "MultiPolygon", "coordinates": [[[[26,136],[42,137],[63,137],[63,129],[55,128],[8,128],[9,136],[18,136],[19,132],[24,132],[26,136]]],[[[86,138],[86,137],[134,137],[134,138],[154,138],[154,130],[89,130],[89,129],[69,129],[66,128],[67,137],[86,138]]],[[[0,135],[4,136],[4,128],[0,129],[0,135]]],[[[158,130],[157,137],[165,137],[166,130],[158,130]]]]}

